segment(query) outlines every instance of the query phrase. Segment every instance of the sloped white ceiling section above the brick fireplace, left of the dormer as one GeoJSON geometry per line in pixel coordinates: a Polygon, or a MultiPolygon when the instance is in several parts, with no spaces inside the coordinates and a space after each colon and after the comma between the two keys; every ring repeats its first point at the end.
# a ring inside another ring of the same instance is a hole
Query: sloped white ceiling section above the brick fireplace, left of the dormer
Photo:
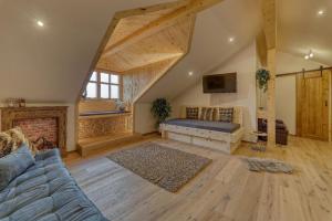
{"type": "Polygon", "coordinates": [[[1,0],[0,102],[75,102],[114,13],[166,2],[1,0]]]}

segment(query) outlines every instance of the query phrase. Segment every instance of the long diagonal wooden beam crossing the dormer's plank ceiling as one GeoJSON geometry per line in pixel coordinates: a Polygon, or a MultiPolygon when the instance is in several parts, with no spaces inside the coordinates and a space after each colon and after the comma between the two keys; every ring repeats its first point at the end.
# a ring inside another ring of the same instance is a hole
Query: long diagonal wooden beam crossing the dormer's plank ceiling
{"type": "Polygon", "coordinates": [[[163,29],[174,25],[180,19],[186,17],[195,15],[196,13],[208,9],[222,0],[184,0],[186,2],[185,6],[174,10],[173,12],[148,23],[147,25],[138,29],[137,31],[133,32],[132,34],[123,38],[118,42],[114,43],[113,45],[105,49],[103,52],[103,56],[110,56],[126,46],[129,46],[147,36],[151,36],[163,29]]]}

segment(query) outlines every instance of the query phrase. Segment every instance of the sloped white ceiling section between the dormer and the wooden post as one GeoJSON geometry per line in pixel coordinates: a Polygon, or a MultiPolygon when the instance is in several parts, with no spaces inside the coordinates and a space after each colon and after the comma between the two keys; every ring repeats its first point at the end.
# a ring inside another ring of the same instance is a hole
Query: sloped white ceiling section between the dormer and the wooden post
{"type": "Polygon", "coordinates": [[[196,19],[190,52],[138,102],[175,97],[195,84],[203,74],[253,43],[260,22],[259,0],[226,0],[200,12],[196,19]],[[235,38],[234,43],[228,42],[231,36],[235,38]],[[188,75],[190,71],[194,76],[188,75]]]}

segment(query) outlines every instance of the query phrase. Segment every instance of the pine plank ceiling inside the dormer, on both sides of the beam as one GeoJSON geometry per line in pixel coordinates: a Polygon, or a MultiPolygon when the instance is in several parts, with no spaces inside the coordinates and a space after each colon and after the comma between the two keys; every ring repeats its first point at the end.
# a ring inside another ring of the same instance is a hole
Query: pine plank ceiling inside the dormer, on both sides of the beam
{"type": "MultiPolygon", "coordinates": [[[[170,9],[163,10],[163,13],[169,11],[170,9]]],[[[160,17],[160,13],[156,12],[153,12],[153,15],[147,15],[148,20],[158,17],[160,17]]],[[[143,23],[146,23],[144,15],[125,18],[125,22],[122,22],[122,20],[120,20],[116,29],[114,30],[110,42],[114,41],[114,36],[115,39],[121,36],[124,38],[126,34],[123,34],[124,32],[121,30],[125,30],[125,27],[128,23],[136,28],[143,23]]],[[[97,69],[107,69],[113,72],[123,73],[125,71],[137,69],[139,66],[146,66],[147,64],[160,62],[163,60],[178,57],[188,49],[188,40],[190,39],[190,30],[194,28],[194,15],[181,18],[172,27],[162,29],[154,35],[141,39],[136,43],[123,48],[116,53],[112,53],[111,55],[108,53],[102,54],[102,57],[97,64],[97,69]]],[[[108,45],[112,44],[110,42],[108,45]]]]}

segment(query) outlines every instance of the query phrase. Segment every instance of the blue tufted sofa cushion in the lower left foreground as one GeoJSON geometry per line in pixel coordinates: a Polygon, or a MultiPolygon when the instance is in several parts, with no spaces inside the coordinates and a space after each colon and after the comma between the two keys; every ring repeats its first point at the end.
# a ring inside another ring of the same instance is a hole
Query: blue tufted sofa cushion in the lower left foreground
{"type": "Polygon", "coordinates": [[[106,221],[65,169],[58,149],[32,160],[0,191],[0,221],[106,221]]]}

